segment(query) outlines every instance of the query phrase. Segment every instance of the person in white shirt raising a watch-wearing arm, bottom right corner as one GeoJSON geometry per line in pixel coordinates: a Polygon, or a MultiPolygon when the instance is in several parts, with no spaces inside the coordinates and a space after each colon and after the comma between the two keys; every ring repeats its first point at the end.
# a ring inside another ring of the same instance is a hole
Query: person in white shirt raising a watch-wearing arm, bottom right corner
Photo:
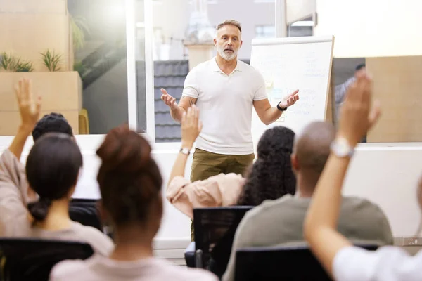
{"type": "MultiPolygon", "coordinates": [[[[388,245],[377,251],[366,251],[353,246],[350,237],[335,228],[339,213],[341,223],[341,188],[352,152],[359,139],[376,123],[381,112],[379,107],[371,107],[371,86],[371,79],[362,75],[347,91],[333,149],[307,211],[305,238],[316,259],[335,280],[422,280],[422,251],[410,256],[404,249],[388,245]]],[[[421,195],[420,192],[419,189],[418,195],[421,195]]],[[[421,197],[418,202],[421,203],[421,197]]],[[[356,222],[347,223],[353,226],[356,222]]],[[[374,222],[373,227],[376,226],[374,222]]]]}

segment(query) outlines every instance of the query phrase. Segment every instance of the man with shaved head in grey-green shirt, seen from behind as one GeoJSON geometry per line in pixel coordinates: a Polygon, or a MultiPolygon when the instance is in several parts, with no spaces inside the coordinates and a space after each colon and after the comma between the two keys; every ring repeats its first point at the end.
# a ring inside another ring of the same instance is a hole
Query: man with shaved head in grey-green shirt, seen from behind
{"type": "MultiPolygon", "coordinates": [[[[296,195],[263,202],[245,214],[236,230],[223,280],[234,280],[236,249],[305,243],[303,221],[334,136],[333,126],[324,122],[309,124],[297,136],[292,154],[297,178],[296,195]]],[[[368,200],[343,197],[337,228],[354,242],[392,244],[392,233],[385,214],[368,200]]]]}

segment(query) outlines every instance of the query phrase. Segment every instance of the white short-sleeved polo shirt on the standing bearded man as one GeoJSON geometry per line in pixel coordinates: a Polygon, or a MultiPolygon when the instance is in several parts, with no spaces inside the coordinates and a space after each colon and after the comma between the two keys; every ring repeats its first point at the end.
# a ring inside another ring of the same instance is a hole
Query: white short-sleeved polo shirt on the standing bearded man
{"type": "Polygon", "coordinates": [[[212,58],[193,67],[182,95],[198,98],[203,130],[196,148],[224,155],[253,153],[253,101],[267,98],[260,72],[238,60],[236,69],[226,75],[212,58]]]}

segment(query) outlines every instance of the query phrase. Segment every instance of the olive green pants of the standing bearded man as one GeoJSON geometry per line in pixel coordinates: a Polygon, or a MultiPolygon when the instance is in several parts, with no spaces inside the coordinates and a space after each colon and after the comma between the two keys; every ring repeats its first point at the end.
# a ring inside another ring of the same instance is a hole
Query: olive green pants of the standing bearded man
{"type": "MultiPolygon", "coordinates": [[[[200,150],[193,152],[191,182],[203,181],[218,174],[244,174],[245,169],[252,164],[255,154],[224,155],[200,150]]],[[[191,223],[191,240],[193,237],[193,223],[191,223]]]]}

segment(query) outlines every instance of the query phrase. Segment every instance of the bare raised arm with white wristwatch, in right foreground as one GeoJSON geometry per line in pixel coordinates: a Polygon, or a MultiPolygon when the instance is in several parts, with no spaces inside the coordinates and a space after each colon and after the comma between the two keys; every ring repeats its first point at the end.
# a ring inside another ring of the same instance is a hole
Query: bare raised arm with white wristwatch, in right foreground
{"type": "MultiPolygon", "coordinates": [[[[371,109],[371,79],[359,77],[350,86],[340,117],[335,144],[352,151],[360,138],[376,122],[379,107],[371,109]],[[342,145],[343,144],[343,145],[342,145]]],[[[350,162],[349,155],[342,155],[333,148],[324,171],[316,184],[312,203],[305,218],[305,239],[326,271],[333,275],[333,260],[340,249],[351,243],[337,231],[341,203],[341,188],[350,162]]]]}

